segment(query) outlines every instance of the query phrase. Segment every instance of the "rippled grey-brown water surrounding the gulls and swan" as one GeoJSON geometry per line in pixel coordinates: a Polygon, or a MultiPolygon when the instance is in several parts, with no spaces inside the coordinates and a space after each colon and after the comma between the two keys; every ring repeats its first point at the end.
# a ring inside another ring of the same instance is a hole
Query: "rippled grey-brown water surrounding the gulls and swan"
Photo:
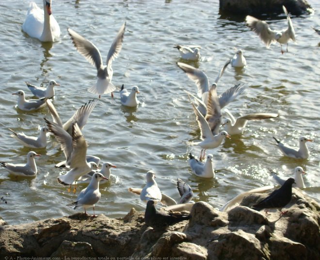
{"type": "MultiPolygon", "coordinates": [[[[53,44],[42,44],[21,31],[29,0],[2,1],[0,160],[22,163],[30,150],[11,138],[7,128],[35,135],[44,125],[43,117],[50,118],[46,108],[36,113],[15,108],[12,93],[23,89],[31,96],[24,81],[47,85],[54,79],[61,84],[53,102],[63,121],[95,97],[87,89],[95,82],[96,69],[76,51],[66,29],[92,40],[105,61],[114,36],[127,21],[123,49],[112,64],[112,82],[118,87],[138,85],[142,104],[126,108],[119,93],[114,93],[113,100],[103,96],[83,130],[88,153],[117,165],[112,173],[118,180],[100,187],[96,213],[121,217],[132,207],[144,211],[139,196],[130,194],[128,187],[143,187],[150,169],[156,172],[163,193],[178,199],[175,182],[181,178],[192,186],[195,201],[221,207],[241,192],[271,184],[267,168],[291,176],[296,166],[302,166],[307,171],[304,191],[319,200],[320,37],[310,26],[319,27],[320,3],[310,3],[314,14],[291,16],[297,44],[290,42],[289,52],[281,55],[278,45],[265,48],[245,26],[244,17],[221,16],[218,1],[53,0],[52,11],[62,30],[60,41],[53,44]],[[280,114],[274,120],[250,122],[241,136],[208,150],[214,156],[215,179],[195,177],[187,162],[190,151],[200,153],[200,147],[188,144],[199,140],[200,132],[183,91],[195,93],[196,87],[176,66],[178,61],[185,62],[172,48],[177,43],[202,46],[202,60],[189,64],[205,71],[210,81],[233,56],[234,48],[241,48],[248,66],[244,70],[228,67],[218,93],[238,82],[247,83],[245,93],[228,105],[233,114],[280,114]],[[315,140],[308,144],[309,160],[281,156],[272,139],[277,136],[294,146],[302,135],[315,140]]],[[[287,26],[284,15],[272,17],[271,23],[273,29],[287,26]]],[[[0,196],[7,200],[7,204],[0,200],[0,216],[10,224],[78,211],[66,206],[77,195],[57,182],[61,170],[54,164],[64,155],[52,137],[48,140],[46,149],[37,150],[42,157],[37,160],[36,178],[16,179],[0,169],[0,196]]]]}

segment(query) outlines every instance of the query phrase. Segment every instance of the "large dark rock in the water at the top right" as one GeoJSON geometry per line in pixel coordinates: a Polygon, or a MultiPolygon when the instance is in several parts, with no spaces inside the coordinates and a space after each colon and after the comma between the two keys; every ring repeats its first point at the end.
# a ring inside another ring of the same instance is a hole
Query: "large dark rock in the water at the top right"
{"type": "Polygon", "coordinates": [[[292,15],[310,13],[312,7],[307,0],[219,0],[220,13],[234,15],[282,14],[282,5],[292,15]]]}

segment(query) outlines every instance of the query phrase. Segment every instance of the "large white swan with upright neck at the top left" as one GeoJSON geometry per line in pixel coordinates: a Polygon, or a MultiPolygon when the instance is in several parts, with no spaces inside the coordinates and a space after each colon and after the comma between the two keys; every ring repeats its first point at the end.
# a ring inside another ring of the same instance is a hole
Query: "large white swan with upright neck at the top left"
{"type": "Polygon", "coordinates": [[[30,37],[38,38],[42,42],[53,42],[60,36],[60,27],[56,19],[51,15],[51,0],[43,0],[43,9],[35,2],[31,2],[26,20],[22,24],[22,30],[30,37]]]}

